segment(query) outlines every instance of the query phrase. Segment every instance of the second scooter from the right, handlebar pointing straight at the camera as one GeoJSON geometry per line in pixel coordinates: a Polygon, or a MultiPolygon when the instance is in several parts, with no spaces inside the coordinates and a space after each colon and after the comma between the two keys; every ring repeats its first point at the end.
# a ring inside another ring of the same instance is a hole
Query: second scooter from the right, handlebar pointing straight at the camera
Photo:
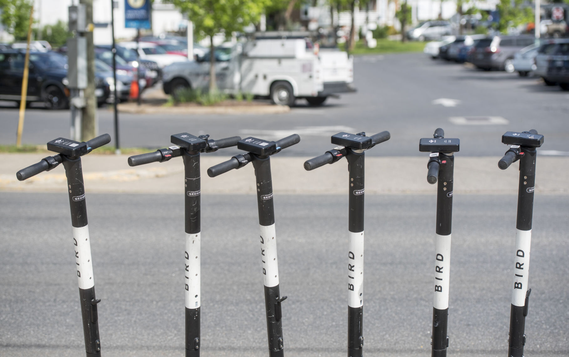
{"type": "Polygon", "coordinates": [[[435,292],[432,307],[431,356],[447,355],[448,290],[451,273],[451,226],[454,153],[460,149],[459,139],[444,137],[436,129],[433,138],[422,138],[419,151],[430,152],[427,163],[427,182],[439,181],[436,195],[435,292]]]}

